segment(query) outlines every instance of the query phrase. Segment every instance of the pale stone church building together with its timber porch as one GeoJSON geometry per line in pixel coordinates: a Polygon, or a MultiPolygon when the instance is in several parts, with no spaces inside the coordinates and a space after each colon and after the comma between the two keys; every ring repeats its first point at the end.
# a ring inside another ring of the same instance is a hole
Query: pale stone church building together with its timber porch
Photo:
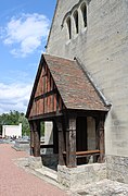
{"type": "Polygon", "coordinates": [[[128,0],[57,0],[26,117],[31,155],[52,147],[61,184],[128,183],[128,0]]]}

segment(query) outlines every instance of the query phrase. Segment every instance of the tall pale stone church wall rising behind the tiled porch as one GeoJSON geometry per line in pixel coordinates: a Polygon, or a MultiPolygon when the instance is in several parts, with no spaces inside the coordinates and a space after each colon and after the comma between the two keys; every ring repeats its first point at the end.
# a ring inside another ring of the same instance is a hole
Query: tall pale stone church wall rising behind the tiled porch
{"type": "Polygon", "coordinates": [[[78,2],[81,1],[59,1],[47,52],[81,60],[112,102],[105,122],[105,152],[128,157],[128,0],[86,0],[87,28],[68,40],[66,23],[61,25],[64,15],[78,2]]]}

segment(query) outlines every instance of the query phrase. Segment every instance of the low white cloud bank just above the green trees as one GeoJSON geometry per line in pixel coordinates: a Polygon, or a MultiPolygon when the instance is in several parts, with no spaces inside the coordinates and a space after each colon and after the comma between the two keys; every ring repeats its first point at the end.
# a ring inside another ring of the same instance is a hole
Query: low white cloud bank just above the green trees
{"type": "Polygon", "coordinates": [[[0,113],[16,110],[26,112],[30,97],[31,84],[11,84],[0,83],[0,113]]]}

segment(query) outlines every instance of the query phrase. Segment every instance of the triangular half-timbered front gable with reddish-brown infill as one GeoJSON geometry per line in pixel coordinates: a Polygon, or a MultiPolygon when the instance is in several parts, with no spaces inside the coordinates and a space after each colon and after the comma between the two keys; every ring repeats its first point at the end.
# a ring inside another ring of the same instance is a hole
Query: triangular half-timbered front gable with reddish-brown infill
{"type": "Polygon", "coordinates": [[[42,56],[34,84],[27,115],[29,115],[29,119],[37,117],[47,118],[48,114],[49,117],[54,117],[61,114],[62,108],[64,108],[63,100],[44,56],[42,56]]]}

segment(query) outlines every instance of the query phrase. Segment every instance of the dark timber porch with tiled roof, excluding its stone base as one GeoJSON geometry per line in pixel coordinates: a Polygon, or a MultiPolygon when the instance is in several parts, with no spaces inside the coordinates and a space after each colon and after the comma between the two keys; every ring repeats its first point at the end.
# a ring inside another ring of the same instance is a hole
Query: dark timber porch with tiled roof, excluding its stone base
{"type": "Polygon", "coordinates": [[[42,56],[26,114],[30,155],[40,157],[41,148],[52,147],[60,166],[74,168],[88,163],[90,157],[93,162],[104,162],[107,111],[76,61],[42,56]],[[41,121],[53,123],[52,145],[40,144],[41,121]]]}

